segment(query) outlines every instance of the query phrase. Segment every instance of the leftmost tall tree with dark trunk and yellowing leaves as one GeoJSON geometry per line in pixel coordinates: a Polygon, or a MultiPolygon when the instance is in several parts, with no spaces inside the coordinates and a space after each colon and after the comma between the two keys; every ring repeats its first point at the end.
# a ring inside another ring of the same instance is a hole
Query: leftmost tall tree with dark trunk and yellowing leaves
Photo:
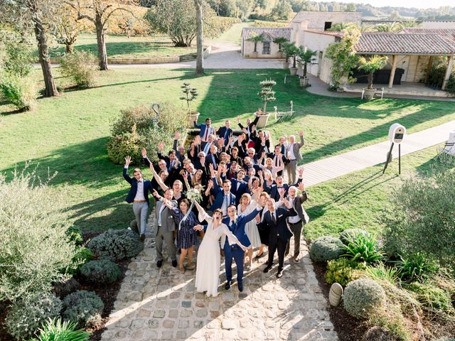
{"type": "Polygon", "coordinates": [[[38,45],[38,57],[43,70],[45,97],[57,96],[48,47],[48,25],[61,0],[9,0],[0,1],[0,22],[7,23],[18,32],[33,28],[38,45]]]}

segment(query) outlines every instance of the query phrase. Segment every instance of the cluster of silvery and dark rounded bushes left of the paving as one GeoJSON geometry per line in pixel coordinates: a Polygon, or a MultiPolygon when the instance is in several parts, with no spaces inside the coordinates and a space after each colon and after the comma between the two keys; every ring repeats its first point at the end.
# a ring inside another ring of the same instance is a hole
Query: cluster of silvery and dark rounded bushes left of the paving
{"type": "Polygon", "coordinates": [[[0,174],[0,301],[11,303],[5,327],[18,340],[33,337],[38,328],[41,337],[58,325],[75,332],[100,323],[101,298],[80,290],[73,276],[92,286],[113,283],[121,276],[115,262],[144,247],[126,229],[109,230],[84,246],[80,229],[60,205],[62,195],[27,168],[9,183],[0,174]]]}

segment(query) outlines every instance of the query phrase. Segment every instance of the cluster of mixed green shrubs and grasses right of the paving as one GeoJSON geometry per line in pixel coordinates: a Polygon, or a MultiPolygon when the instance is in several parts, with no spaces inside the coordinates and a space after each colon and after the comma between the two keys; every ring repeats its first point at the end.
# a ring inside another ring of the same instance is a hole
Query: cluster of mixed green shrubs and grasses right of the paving
{"type": "Polygon", "coordinates": [[[389,330],[395,340],[414,340],[410,325],[418,321],[455,318],[455,281],[422,253],[388,259],[372,234],[348,229],[339,238],[316,239],[310,256],[328,261],[327,283],[346,287],[343,307],[350,315],[389,330]]]}

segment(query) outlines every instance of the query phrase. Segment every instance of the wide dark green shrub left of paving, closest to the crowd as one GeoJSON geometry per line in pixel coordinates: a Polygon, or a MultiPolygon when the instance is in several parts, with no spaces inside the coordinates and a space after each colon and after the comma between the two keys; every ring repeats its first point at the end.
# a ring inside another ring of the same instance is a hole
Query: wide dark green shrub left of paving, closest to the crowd
{"type": "Polygon", "coordinates": [[[144,244],[137,234],[128,229],[109,229],[90,240],[87,248],[100,258],[122,261],[137,256],[144,249],[144,244]]]}

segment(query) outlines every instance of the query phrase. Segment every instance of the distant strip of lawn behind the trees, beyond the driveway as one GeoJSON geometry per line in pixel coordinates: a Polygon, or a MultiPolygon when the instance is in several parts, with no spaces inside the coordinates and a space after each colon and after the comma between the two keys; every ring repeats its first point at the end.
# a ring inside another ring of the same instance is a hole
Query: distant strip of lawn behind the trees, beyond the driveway
{"type": "MultiPolygon", "coordinates": [[[[196,40],[191,48],[176,48],[167,36],[144,37],[106,36],[106,49],[109,58],[156,58],[184,55],[196,52],[196,40]]],[[[77,38],[75,50],[90,51],[97,55],[97,37],[84,33],[77,38]]],[[[51,51],[51,57],[59,57],[65,52],[65,45],[58,45],[51,51]]]]}

